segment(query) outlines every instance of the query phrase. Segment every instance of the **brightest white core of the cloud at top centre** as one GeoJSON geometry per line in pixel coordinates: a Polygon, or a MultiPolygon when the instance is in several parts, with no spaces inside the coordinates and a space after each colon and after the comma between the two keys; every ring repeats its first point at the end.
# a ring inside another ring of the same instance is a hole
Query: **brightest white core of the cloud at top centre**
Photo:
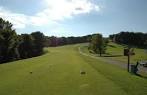
{"type": "Polygon", "coordinates": [[[100,11],[98,5],[90,0],[45,0],[47,9],[42,14],[51,17],[53,20],[63,20],[74,15],[100,11]]]}

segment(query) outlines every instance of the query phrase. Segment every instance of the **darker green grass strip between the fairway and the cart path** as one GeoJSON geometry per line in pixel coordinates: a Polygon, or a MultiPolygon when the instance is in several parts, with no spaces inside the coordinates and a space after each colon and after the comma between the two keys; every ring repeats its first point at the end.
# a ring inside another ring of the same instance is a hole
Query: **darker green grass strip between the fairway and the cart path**
{"type": "Polygon", "coordinates": [[[131,95],[146,95],[147,94],[147,81],[135,75],[131,75],[128,72],[117,68],[114,65],[100,62],[98,59],[87,58],[83,56],[85,60],[98,72],[103,74],[108,79],[114,81],[127,93],[131,95]]]}

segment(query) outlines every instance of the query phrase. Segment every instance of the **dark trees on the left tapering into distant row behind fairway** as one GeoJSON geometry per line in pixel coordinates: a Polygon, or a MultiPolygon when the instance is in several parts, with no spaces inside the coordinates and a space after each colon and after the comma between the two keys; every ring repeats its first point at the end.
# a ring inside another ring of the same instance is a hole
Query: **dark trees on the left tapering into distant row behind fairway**
{"type": "Polygon", "coordinates": [[[85,43],[91,36],[49,37],[40,31],[18,35],[13,24],[0,18],[0,64],[39,56],[44,53],[44,47],[85,43]]]}

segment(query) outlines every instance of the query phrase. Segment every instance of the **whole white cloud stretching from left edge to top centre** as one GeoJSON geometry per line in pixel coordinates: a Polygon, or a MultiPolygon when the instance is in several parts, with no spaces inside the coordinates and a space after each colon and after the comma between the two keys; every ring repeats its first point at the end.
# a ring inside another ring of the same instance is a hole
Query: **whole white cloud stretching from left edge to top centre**
{"type": "Polygon", "coordinates": [[[0,17],[9,20],[14,28],[25,28],[26,25],[42,26],[58,23],[75,15],[100,11],[100,7],[90,0],[43,0],[45,9],[35,15],[29,16],[14,13],[0,7],[0,17]]]}

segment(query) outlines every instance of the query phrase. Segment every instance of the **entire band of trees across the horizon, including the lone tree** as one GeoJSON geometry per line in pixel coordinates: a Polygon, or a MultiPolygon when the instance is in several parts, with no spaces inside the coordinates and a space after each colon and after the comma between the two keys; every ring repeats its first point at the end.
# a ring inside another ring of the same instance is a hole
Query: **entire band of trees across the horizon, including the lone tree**
{"type": "Polygon", "coordinates": [[[0,18],[0,63],[26,59],[44,53],[44,47],[89,42],[89,52],[105,53],[109,39],[119,44],[135,45],[147,48],[147,33],[120,32],[104,38],[101,34],[79,37],[45,36],[40,31],[18,35],[9,21],[0,18]]]}

